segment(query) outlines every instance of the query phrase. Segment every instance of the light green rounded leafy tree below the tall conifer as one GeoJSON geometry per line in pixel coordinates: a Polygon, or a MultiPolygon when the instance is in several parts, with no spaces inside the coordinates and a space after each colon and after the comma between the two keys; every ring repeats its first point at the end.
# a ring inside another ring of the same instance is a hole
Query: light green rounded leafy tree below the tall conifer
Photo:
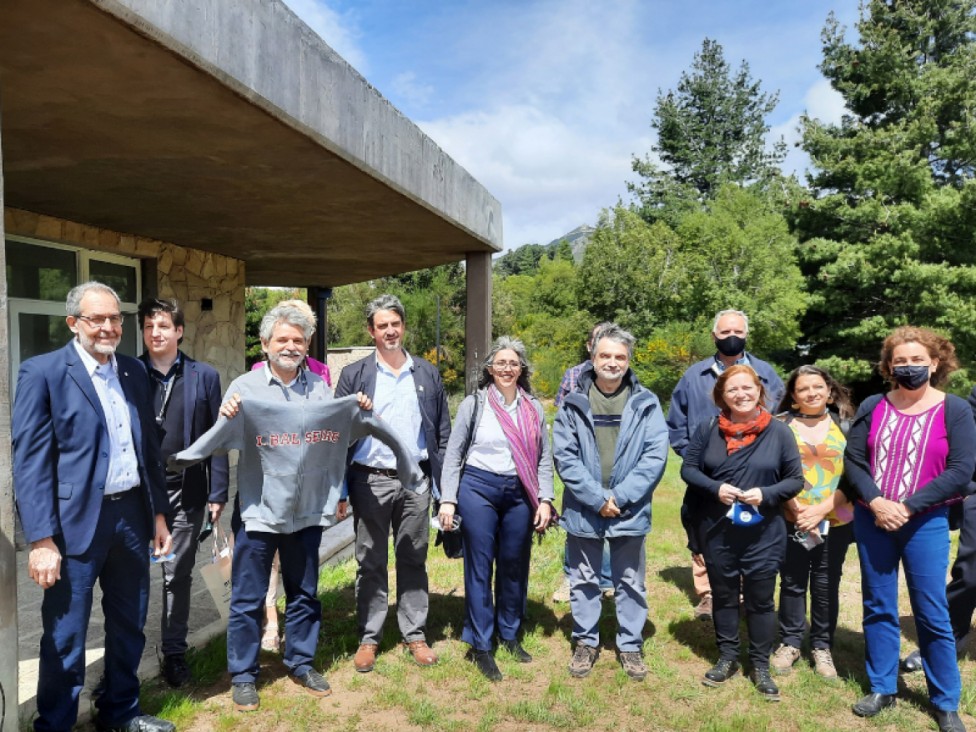
{"type": "Polygon", "coordinates": [[[751,338],[766,353],[793,348],[806,302],[786,219],[734,185],[677,228],[648,224],[622,206],[604,212],[583,256],[577,297],[596,319],[641,338],[738,308],[749,313],[751,338]]]}

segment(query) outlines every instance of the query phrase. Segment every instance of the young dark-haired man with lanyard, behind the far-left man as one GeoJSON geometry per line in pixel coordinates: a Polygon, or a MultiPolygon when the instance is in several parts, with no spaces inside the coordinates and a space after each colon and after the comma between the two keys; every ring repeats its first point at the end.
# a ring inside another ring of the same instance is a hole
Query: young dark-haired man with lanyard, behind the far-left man
{"type": "MultiPolygon", "coordinates": [[[[180,350],[185,318],[175,300],[147,298],[139,305],[146,346],[142,361],[152,384],[152,409],[165,460],[189,447],[217,421],[220,376],[180,350]]],[[[174,559],[163,564],[163,677],[179,688],[190,680],[186,664],[190,591],[197,537],[206,515],[216,523],[227,503],[227,456],[207,458],[180,473],[166,474],[169,530],[174,559]]]]}

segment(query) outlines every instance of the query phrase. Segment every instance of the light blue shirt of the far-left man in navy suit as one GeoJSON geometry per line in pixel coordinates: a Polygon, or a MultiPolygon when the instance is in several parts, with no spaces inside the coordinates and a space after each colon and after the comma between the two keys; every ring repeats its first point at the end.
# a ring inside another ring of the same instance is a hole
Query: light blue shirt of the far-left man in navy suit
{"type": "Polygon", "coordinates": [[[108,476],[105,479],[105,495],[122,493],[139,485],[139,460],[132,440],[132,419],[129,402],[125,399],[119,381],[119,366],[115,354],[108,363],[99,363],[75,340],[75,349],[91,377],[98,401],[105,414],[108,428],[108,476]]]}

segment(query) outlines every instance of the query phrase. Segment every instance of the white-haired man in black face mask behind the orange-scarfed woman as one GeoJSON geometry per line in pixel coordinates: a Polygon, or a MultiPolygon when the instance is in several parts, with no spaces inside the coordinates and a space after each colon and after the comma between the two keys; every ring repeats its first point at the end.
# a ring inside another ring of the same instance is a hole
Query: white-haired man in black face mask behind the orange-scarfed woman
{"type": "MultiPolygon", "coordinates": [[[[759,375],[766,391],[766,408],[773,411],[783,397],[783,380],[765,361],[746,352],[746,337],[749,335],[749,318],[741,310],[722,310],[715,316],[712,325],[712,338],[716,354],[691,366],[671,394],[671,407],[668,410],[668,432],[671,448],[682,458],[688,449],[691,436],[703,424],[718,415],[718,407],[712,401],[715,382],[729,366],[746,364],[759,375]]],[[[692,492],[689,492],[692,493],[692,492]]],[[[705,560],[697,541],[697,523],[694,498],[686,500],[681,508],[681,520],[688,532],[688,548],[692,553],[692,575],[695,580],[695,593],[699,603],[695,617],[700,620],[712,619],[712,590],[708,584],[705,560]]]]}

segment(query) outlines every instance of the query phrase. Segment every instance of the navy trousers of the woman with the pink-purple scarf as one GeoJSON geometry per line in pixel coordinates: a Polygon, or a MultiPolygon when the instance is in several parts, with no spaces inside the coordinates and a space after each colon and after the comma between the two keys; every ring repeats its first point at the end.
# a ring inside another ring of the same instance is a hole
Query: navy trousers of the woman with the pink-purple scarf
{"type": "Polygon", "coordinates": [[[457,510],[464,537],[461,640],[475,650],[489,651],[496,632],[502,640],[515,640],[522,625],[532,509],[517,476],[465,466],[457,510]]]}

